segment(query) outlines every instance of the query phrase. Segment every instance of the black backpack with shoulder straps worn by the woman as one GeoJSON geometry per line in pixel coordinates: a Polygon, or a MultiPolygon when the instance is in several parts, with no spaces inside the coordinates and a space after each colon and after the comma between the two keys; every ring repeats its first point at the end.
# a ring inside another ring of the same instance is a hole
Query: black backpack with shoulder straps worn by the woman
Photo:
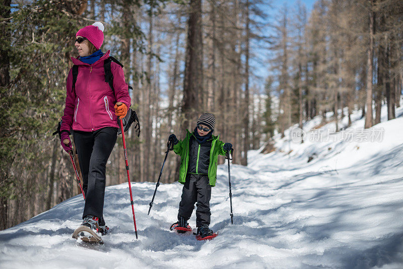
{"type": "MultiPolygon", "coordinates": [[[[121,64],[117,59],[115,59],[112,56],[109,56],[107,59],[104,60],[104,71],[105,71],[105,82],[109,84],[109,87],[112,89],[113,93],[115,93],[115,89],[113,88],[113,74],[110,68],[111,62],[116,62],[123,68],[123,64],[121,64]]],[[[78,65],[73,65],[72,68],[72,74],[73,74],[73,85],[72,85],[72,92],[76,90],[76,82],[77,82],[77,76],[79,74],[79,66],[78,65]]],[[[129,85],[128,89],[133,90],[133,88],[129,85]]],[[[131,110],[131,108],[127,109],[127,114],[124,118],[122,118],[123,122],[123,130],[127,131],[131,124],[136,121],[135,125],[135,131],[137,131],[137,136],[140,137],[140,121],[139,118],[136,114],[135,110],[131,110]]],[[[120,120],[117,119],[117,123],[120,125],[120,120]]],[[[121,129],[118,129],[117,134],[122,133],[121,129]]]]}

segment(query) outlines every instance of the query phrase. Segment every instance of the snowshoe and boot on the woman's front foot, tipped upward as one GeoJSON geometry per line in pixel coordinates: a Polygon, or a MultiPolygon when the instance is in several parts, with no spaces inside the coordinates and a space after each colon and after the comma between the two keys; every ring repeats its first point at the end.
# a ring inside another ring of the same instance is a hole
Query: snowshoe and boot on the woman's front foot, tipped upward
{"type": "MultiPolygon", "coordinates": [[[[88,215],[84,218],[83,223],[79,228],[77,228],[73,233],[73,238],[81,239],[88,243],[99,243],[103,244],[101,238],[101,231],[98,225],[98,218],[92,215],[88,215]]],[[[106,227],[106,226],[105,226],[106,227]]],[[[103,232],[107,231],[104,228],[103,232]]]]}

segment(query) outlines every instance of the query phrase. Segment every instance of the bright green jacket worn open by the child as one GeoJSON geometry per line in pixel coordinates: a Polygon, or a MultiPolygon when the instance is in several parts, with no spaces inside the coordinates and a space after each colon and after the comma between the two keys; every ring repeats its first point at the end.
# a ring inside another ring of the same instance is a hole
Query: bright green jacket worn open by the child
{"type": "MultiPolygon", "coordinates": [[[[180,155],[180,168],[179,168],[179,182],[184,184],[186,181],[187,165],[189,163],[189,141],[192,133],[186,130],[186,138],[180,140],[173,146],[173,152],[180,155]]],[[[217,179],[217,160],[218,155],[225,156],[225,150],[223,149],[224,142],[219,140],[220,136],[212,136],[211,150],[210,150],[210,164],[209,164],[209,184],[211,186],[216,185],[217,179]]]]}

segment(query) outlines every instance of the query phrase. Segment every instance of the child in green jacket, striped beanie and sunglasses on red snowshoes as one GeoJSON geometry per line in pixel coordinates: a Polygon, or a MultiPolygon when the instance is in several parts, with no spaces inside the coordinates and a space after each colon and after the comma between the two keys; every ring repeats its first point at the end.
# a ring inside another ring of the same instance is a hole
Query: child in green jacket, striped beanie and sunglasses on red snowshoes
{"type": "Polygon", "coordinates": [[[201,114],[193,132],[186,130],[185,139],[178,141],[175,134],[168,139],[174,145],[173,151],[181,157],[179,182],[183,184],[178,222],[172,224],[171,230],[190,230],[187,221],[197,201],[196,226],[200,239],[213,235],[209,229],[210,198],[211,187],[216,185],[218,155],[225,156],[232,149],[231,143],[224,143],[219,140],[220,136],[213,136],[215,122],[213,114],[201,114]]]}

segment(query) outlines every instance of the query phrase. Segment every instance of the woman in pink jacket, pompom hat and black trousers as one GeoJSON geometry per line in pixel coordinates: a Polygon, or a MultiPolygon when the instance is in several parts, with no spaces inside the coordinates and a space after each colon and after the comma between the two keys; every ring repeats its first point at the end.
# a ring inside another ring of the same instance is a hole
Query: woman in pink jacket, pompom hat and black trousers
{"type": "Polygon", "coordinates": [[[130,107],[128,85],[119,64],[111,62],[114,91],[105,82],[104,60],[109,50],[104,54],[99,49],[103,30],[103,24],[96,22],[76,34],[80,56],[72,60],[78,65],[77,81],[73,83],[70,70],[60,127],[61,146],[66,152],[72,150],[69,134],[73,129],[86,196],[82,226],[102,235],[108,229],[103,219],[106,163],[116,143],[117,117],[123,118],[130,107]]]}

